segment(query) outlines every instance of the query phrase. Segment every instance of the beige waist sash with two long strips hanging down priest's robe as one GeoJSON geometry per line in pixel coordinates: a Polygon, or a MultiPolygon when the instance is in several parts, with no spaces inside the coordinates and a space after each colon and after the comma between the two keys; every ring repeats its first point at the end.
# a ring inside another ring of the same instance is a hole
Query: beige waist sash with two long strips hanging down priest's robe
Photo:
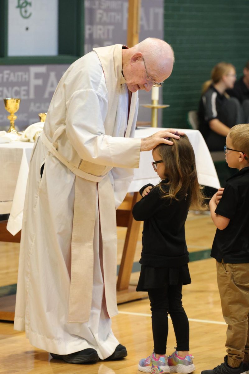
{"type": "MultiPolygon", "coordinates": [[[[58,153],[44,132],[40,140],[60,162],[75,174],[74,219],[72,228],[71,283],[68,322],[84,323],[89,320],[93,291],[93,237],[96,214],[96,184],[99,193],[99,215],[103,242],[103,273],[106,306],[109,315],[116,309],[116,272],[114,279],[106,265],[116,251],[116,209],[108,173],[103,176],[89,174],[69,163],[58,153]],[[109,259],[109,260],[108,260],[109,259]],[[114,286],[113,286],[114,285],[114,286]],[[112,293],[109,300],[109,292],[112,293]],[[113,295],[115,293],[115,296],[113,295]],[[114,296],[114,300],[113,300],[114,296]]],[[[106,166],[103,166],[106,171],[106,166]]],[[[110,167],[111,169],[111,167],[110,167]]],[[[114,256],[115,257],[115,256],[114,256]]],[[[116,264],[115,264],[116,268],[116,264]]],[[[110,269],[109,269],[110,270],[110,269]]],[[[113,273],[113,269],[112,273],[113,273]]]]}

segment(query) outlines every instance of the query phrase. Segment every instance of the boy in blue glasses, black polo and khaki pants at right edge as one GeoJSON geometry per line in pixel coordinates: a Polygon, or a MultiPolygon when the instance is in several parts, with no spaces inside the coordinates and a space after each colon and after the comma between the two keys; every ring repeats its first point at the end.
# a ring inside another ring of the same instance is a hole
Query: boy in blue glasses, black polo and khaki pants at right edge
{"type": "Polygon", "coordinates": [[[211,257],[227,328],[227,356],[201,374],[240,374],[249,366],[249,124],[233,126],[226,138],[225,159],[239,171],[209,202],[217,226],[211,257]],[[246,363],[246,364],[245,364],[246,363]]]}

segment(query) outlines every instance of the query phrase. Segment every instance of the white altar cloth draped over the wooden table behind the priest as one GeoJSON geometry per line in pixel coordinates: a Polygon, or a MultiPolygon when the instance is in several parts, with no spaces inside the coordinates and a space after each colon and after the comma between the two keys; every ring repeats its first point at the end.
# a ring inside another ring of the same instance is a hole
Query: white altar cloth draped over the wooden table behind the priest
{"type": "MultiPolygon", "coordinates": [[[[160,128],[141,128],[136,138],[145,138],[160,128]]],[[[177,131],[177,129],[175,129],[177,131]]],[[[220,183],[208,147],[198,130],[183,129],[193,145],[199,183],[219,188],[220,183]]],[[[0,214],[10,213],[7,230],[15,235],[22,227],[25,190],[28,178],[28,164],[34,143],[10,142],[0,144],[0,214]]],[[[151,162],[152,152],[141,152],[140,166],[134,169],[134,178],[128,192],[139,191],[147,183],[157,184],[159,178],[151,162]]]]}

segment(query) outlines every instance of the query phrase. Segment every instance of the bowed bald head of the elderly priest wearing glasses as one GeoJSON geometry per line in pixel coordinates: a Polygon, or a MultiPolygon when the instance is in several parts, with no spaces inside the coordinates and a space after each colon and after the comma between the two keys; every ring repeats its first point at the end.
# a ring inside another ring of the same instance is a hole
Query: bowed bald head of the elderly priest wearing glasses
{"type": "Polygon", "coordinates": [[[150,91],[167,79],[173,69],[174,52],[164,40],[147,38],[122,49],[122,71],[131,92],[150,91]]]}

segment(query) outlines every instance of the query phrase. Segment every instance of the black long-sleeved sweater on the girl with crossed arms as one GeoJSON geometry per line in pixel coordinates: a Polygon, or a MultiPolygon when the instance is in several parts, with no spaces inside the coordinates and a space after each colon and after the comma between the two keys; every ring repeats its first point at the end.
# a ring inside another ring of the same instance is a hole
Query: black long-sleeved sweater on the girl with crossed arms
{"type": "MultiPolygon", "coordinates": [[[[165,191],[169,186],[164,180],[165,191]]],[[[153,186],[146,184],[144,188],[153,186]]],[[[158,186],[138,201],[133,207],[136,221],[144,221],[143,249],[140,264],[152,267],[180,267],[189,262],[189,252],[185,240],[184,224],[190,206],[190,194],[181,200],[163,198],[158,186]]]]}

